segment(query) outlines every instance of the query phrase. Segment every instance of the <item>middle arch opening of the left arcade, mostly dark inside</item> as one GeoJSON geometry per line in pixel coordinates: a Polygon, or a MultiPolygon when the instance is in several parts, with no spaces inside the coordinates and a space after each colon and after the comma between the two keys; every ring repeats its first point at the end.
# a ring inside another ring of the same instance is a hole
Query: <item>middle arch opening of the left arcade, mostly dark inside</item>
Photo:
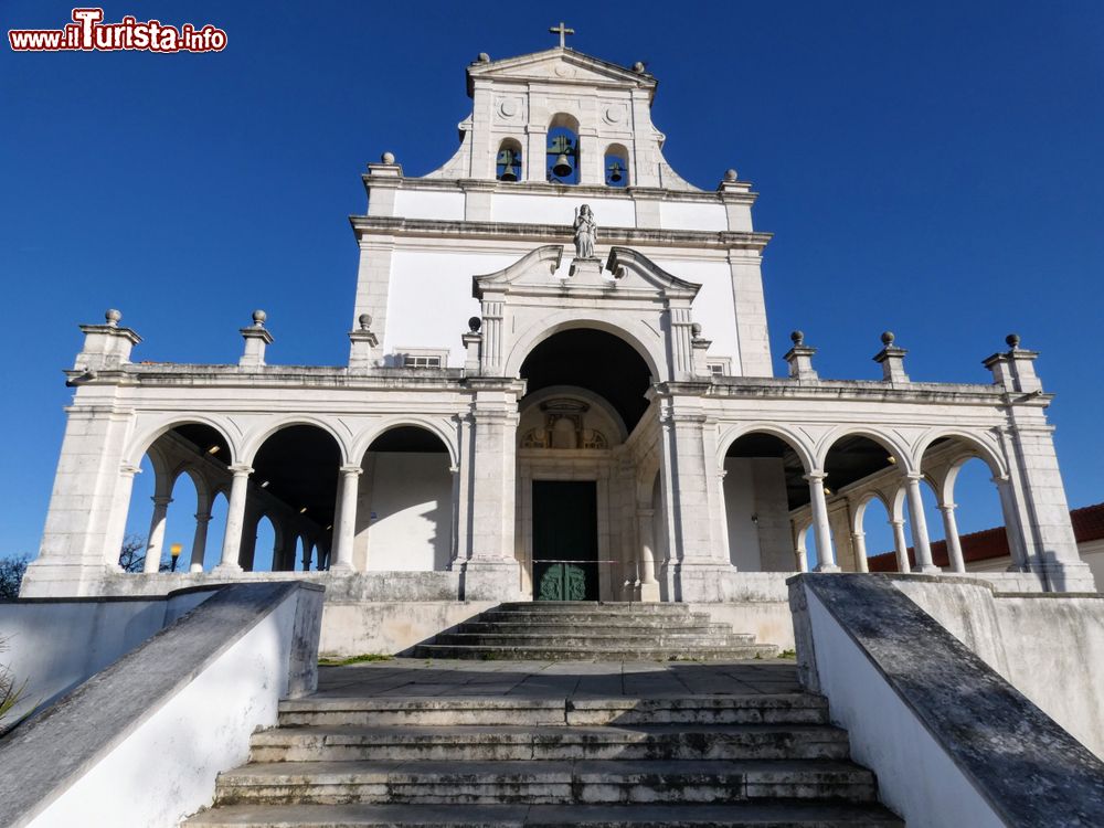
{"type": "Polygon", "coordinates": [[[238,563],[255,572],[294,569],[295,537],[328,538],[333,530],[341,449],[331,434],[315,425],[288,425],[272,434],[253,458],[238,563]],[[270,556],[257,541],[248,555],[248,529],[265,516],[273,527],[270,556]],[[252,563],[252,566],[248,564],[252,563]],[[267,564],[267,565],[266,565],[267,564]]]}

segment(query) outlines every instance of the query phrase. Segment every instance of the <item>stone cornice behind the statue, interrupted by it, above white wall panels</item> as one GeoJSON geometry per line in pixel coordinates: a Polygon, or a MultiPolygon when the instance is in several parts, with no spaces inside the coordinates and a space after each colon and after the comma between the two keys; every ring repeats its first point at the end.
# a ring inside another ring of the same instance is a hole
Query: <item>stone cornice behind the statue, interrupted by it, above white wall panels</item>
{"type": "MultiPolygon", "coordinates": [[[[566,224],[514,224],[510,222],[443,221],[439,219],[397,219],[383,215],[350,215],[357,237],[386,235],[395,237],[471,238],[524,241],[535,244],[571,244],[566,224]]],[[[714,250],[763,251],[771,233],[733,231],[658,230],[650,227],[599,227],[598,244],[624,247],[709,247],[714,250]]]]}

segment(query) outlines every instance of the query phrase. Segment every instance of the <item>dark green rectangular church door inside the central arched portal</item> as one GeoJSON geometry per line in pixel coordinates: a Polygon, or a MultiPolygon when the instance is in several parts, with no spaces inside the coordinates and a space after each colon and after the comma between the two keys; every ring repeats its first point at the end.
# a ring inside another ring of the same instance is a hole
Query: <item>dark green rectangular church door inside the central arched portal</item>
{"type": "Polygon", "coordinates": [[[598,599],[593,480],[533,480],[533,599],[598,599]]]}

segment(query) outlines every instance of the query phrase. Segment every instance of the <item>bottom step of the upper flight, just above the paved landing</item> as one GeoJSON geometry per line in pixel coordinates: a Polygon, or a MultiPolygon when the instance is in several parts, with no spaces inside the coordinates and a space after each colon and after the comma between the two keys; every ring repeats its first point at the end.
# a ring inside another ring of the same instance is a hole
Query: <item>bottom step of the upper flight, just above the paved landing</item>
{"type": "Polygon", "coordinates": [[[420,644],[414,647],[414,658],[458,658],[501,661],[743,661],[753,658],[776,658],[778,648],[773,644],[739,646],[671,645],[592,646],[586,649],[556,646],[461,646],[420,644]]]}

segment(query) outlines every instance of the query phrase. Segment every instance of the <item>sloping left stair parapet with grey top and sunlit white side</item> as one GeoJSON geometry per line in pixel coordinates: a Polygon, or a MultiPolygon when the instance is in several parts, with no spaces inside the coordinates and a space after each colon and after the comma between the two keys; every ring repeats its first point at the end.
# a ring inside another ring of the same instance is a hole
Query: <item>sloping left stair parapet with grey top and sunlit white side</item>
{"type": "Polygon", "coordinates": [[[0,747],[0,825],[174,825],[283,694],[314,689],[320,604],[307,584],[230,586],[97,673],[0,747]]]}

